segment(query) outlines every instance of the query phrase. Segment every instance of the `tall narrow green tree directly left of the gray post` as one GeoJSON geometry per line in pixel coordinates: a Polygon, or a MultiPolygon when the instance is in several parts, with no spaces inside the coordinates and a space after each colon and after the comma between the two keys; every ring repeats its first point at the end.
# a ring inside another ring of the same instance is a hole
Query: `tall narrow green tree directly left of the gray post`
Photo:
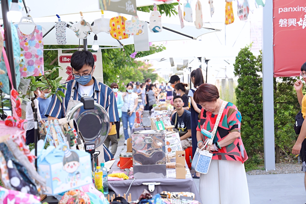
{"type": "Polygon", "coordinates": [[[256,58],[252,45],[240,50],[234,63],[238,78],[235,89],[237,108],[241,112],[241,138],[250,157],[263,152],[263,104],[261,55],[256,58]]]}

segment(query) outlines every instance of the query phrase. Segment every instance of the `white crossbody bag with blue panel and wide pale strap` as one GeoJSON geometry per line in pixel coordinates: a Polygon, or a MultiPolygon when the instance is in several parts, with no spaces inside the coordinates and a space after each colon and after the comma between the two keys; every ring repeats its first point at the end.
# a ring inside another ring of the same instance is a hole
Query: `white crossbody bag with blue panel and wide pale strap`
{"type": "Polygon", "coordinates": [[[215,123],[215,127],[214,129],[212,130],[212,137],[211,138],[207,138],[206,142],[205,142],[205,145],[200,149],[199,147],[196,148],[196,153],[194,154],[194,157],[193,157],[193,160],[192,160],[192,163],[191,163],[191,167],[196,170],[196,172],[199,172],[201,174],[207,174],[208,172],[208,169],[209,169],[209,166],[210,166],[210,163],[211,163],[211,158],[212,158],[212,153],[209,152],[208,148],[212,145],[213,141],[214,141],[214,137],[215,137],[215,134],[216,134],[216,131],[217,131],[217,127],[218,127],[218,124],[220,122],[220,119],[221,119],[221,115],[223,113],[223,110],[226,106],[228,102],[226,101],[223,101],[221,107],[220,107],[220,110],[219,110],[219,113],[218,113],[218,116],[217,116],[217,119],[216,119],[216,123],[215,123]],[[206,148],[206,150],[203,150],[203,148],[206,148]]]}

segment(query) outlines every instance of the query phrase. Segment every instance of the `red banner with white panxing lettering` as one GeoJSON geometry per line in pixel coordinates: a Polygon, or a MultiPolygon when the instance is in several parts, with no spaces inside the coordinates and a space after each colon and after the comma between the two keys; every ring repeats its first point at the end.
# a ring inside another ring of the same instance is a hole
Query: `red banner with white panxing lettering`
{"type": "Polygon", "coordinates": [[[299,76],[306,61],[306,1],[273,0],[274,77],[299,76]]]}

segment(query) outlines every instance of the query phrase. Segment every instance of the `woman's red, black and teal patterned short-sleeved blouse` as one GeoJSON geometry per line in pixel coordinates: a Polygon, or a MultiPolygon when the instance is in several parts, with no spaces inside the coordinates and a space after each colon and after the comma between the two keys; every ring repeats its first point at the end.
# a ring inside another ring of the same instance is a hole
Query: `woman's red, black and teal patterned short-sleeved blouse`
{"type": "MultiPolygon", "coordinates": [[[[201,131],[201,127],[203,127],[205,122],[203,128],[209,132],[212,132],[217,116],[218,115],[207,112],[202,108],[201,113],[199,114],[200,119],[198,120],[198,127],[196,130],[201,131]]],[[[213,144],[220,142],[230,132],[240,132],[240,126],[241,113],[234,104],[229,102],[223,110],[213,144]]],[[[205,138],[203,138],[203,141],[205,141],[207,138],[206,136],[204,137],[205,138]]],[[[241,137],[237,138],[232,144],[222,147],[222,149],[219,149],[218,152],[214,151],[212,159],[241,161],[244,163],[244,161],[248,159],[248,155],[244,149],[241,137]]]]}

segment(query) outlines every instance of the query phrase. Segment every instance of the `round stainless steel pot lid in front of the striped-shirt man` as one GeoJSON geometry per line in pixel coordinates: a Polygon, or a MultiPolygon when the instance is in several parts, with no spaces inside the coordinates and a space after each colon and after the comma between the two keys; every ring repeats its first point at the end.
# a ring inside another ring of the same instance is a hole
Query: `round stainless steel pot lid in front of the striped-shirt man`
{"type": "Polygon", "coordinates": [[[110,119],[106,110],[95,103],[94,109],[85,110],[83,103],[74,106],[66,115],[67,120],[75,119],[78,130],[86,143],[103,144],[110,130],[110,119]]]}

